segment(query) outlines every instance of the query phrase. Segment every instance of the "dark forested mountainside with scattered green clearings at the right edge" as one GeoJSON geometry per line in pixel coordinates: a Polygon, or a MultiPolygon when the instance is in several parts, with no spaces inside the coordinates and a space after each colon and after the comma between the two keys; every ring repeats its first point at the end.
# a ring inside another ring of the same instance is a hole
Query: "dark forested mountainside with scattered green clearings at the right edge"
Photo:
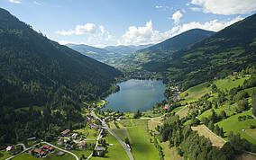
{"type": "Polygon", "coordinates": [[[166,82],[176,82],[186,89],[255,67],[255,53],[256,14],[253,14],[164,59],[143,64],[142,69],[158,71],[166,82]]]}

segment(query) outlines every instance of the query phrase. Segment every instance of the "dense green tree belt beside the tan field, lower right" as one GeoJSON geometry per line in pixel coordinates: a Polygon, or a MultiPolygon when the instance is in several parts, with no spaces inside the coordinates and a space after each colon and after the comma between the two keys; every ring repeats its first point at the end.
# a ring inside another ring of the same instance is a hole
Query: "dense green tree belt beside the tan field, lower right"
{"type": "Polygon", "coordinates": [[[229,142],[221,149],[213,147],[208,138],[199,136],[190,125],[185,126],[184,120],[179,120],[178,115],[169,114],[163,126],[160,127],[161,141],[169,141],[169,147],[178,147],[178,154],[185,159],[205,160],[219,159],[229,160],[243,151],[256,152],[256,147],[239,134],[229,134],[229,142]]]}

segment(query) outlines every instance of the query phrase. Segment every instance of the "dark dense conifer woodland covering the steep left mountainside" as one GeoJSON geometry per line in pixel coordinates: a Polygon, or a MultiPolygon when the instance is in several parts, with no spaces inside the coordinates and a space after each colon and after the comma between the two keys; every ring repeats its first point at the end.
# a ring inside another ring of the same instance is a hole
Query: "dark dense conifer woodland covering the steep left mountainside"
{"type": "Polygon", "coordinates": [[[81,102],[113,91],[114,67],[49,40],[4,9],[0,24],[1,147],[79,125],[81,102]]]}

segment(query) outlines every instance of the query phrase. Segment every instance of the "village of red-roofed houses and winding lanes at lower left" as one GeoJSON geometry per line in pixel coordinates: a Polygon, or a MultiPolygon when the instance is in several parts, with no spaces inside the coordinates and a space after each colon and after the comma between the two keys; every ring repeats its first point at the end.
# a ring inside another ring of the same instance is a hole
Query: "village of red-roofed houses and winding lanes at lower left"
{"type": "MultiPolygon", "coordinates": [[[[105,138],[107,135],[106,121],[123,120],[123,112],[106,113],[105,119],[99,119],[95,111],[100,111],[103,108],[105,101],[102,101],[100,105],[93,103],[87,107],[87,113],[85,114],[85,123],[87,124],[85,129],[63,129],[59,133],[59,136],[55,138],[53,142],[46,142],[44,139],[28,138],[28,147],[24,144],[11,145],[5,148],[5,152],[12,155],[6,159],[12,159],[15,156],[19,156],[24,152],[30,154],[35,158],[46,158],[48,156],[65,157],[67,155],[75,156],[76,159],[89,159],[91,156],[104,157],[107,152],[107,146],[113,146],[113,144],[107,144],[105,138]],[[90,154],[78,154],[88,153],[90,154]],[[78,157],[77,155],[81,155],[78,157]],[[89,156],[85,156],[89,155],[89,156]]],[[[114,132],[113,132],[114,133],[114,132]]],[[[116,136],[116,135],[115,135],[116,136]]],[[[123,142],[122,142],[123,143],[123,142]]],[[[124,145],[127,147],[126,145],[124,145]]],[[[129,145],[128,145],[129,147],[129,145]]],[[[128,148],[127,147],[127,148],[128,148]]],[[[131,150],[129,148],[129,150],[131,150]]]]}

